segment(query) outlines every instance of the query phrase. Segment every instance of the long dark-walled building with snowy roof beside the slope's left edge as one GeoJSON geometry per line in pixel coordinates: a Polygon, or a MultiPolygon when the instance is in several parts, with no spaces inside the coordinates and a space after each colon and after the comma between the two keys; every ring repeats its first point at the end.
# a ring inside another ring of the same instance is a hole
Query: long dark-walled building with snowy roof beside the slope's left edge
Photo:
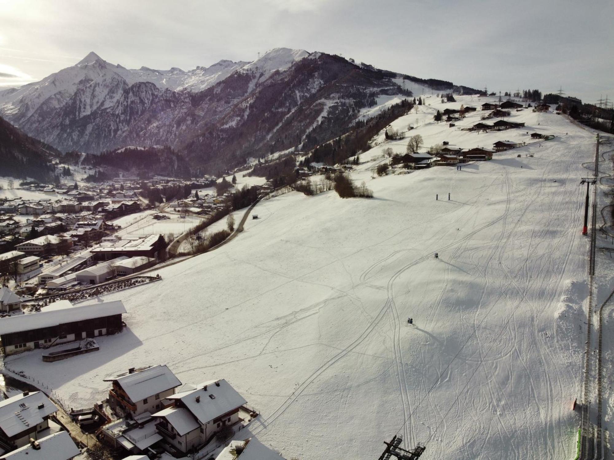
{"type": "Polygon", "coordinates": [[[122,330],[122,301],[75,307],[58,301],[42,312],[0,318],[0,340],[5,356],[86,337],[122,330]]]}

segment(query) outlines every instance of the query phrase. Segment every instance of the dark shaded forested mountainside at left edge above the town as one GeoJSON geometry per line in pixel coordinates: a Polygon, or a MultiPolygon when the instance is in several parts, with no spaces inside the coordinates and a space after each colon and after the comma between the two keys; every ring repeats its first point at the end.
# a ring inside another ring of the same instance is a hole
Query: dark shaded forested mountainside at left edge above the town
{"type": "Polygon", "coordinates": [[[0,118],[0,176],[48,180],[54,170],[50,157],[59,153],[0,118]]]}

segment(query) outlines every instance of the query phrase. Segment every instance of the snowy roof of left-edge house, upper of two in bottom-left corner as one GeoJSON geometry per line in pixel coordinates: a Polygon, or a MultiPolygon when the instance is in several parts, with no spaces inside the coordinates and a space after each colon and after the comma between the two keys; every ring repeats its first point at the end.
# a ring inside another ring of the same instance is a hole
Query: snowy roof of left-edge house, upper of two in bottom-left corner
{"type": "Polygon", "coordinates": [[[0,402],[0,429],[8,437],[28,431],[43,418],[58,412],[58,408],[42,391],[23,393],[0,402]]]}

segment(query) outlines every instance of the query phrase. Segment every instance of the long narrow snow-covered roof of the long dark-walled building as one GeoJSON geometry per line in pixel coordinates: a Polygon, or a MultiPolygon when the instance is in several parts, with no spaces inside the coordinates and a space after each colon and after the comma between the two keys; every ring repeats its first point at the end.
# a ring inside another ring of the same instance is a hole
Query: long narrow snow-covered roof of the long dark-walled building
{"type": "Polygon", "coordinates": [[[58,324],[74,323],[76,321],[126,313],[122,301],[103,302],[101,304],[82,305],[79,307],[62,305],[60,308],[50,305],[50,307],[45,308],[39,313],[0,318],[0,335],[32,331],[33,329],[58,326],[58,324]]]}

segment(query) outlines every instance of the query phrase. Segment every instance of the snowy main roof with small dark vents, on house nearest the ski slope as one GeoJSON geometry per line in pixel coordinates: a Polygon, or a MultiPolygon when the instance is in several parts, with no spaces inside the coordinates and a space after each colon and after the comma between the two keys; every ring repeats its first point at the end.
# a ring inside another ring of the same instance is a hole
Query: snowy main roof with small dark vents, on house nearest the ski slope
{"type": "Polygon", "coordinates": [[[247,403],[223,378],[201,383],[196,385],[196,389],[173,394],[168,399],[181,399],[182,404],[203,425],[247,403]]]}

